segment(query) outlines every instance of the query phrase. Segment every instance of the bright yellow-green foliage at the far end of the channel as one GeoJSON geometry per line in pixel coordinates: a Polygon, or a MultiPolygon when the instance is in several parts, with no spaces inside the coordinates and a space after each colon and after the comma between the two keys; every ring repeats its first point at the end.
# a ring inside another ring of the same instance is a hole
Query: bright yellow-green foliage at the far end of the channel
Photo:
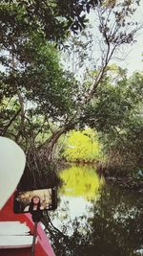
{"type": "Polygon", "coordinates": [[[91,128],[82,131],[72,130],[66,140],[66,149],[63,153],[70,161],[92,161],[101,157],[101,146],[97,133],[91,128]]]}

